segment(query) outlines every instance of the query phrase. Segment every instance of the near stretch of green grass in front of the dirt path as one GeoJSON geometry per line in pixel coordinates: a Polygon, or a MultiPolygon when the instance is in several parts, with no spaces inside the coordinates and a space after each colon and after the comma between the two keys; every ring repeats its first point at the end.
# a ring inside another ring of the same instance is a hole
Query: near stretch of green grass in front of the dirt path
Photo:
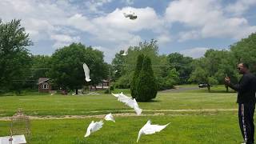
{"type": "MultiPolygon", "coordinates": [[[[101,130],[84,138],[86,127],[92,120],[33,120],[30,143],[136,143],[138,130],[151,119],[153,124],[170,125],[160,133],[142,135],[139,143],[238,143],[241,142],[234,113],[209,115],[167,115],[153,117],[118,117],[116,122],[104,122],[101,130]]],[[[9,122],[0,122],[1,135],[7,135],[9,122]]]]}

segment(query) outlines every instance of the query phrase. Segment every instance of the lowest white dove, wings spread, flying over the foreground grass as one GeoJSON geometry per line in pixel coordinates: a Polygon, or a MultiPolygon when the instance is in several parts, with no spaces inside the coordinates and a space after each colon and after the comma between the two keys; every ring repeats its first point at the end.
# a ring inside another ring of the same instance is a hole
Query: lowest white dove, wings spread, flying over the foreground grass
{"type": "Polygon", "coordinates": [[[146,122],[146,125],[144,125],[142,127],[141,130],[139,130],[138,132],[138,138],[137,138],[137,142],[139,140],[139,138],[141,138],[142,134],[154,134],[156,132],[161,131],[162,129],[166,128],[166,126],[168,126],[170,123],[167,123],[164,126],[159,126],[159,125],[151,125],[151,121],[148,120],[146,122]]]}

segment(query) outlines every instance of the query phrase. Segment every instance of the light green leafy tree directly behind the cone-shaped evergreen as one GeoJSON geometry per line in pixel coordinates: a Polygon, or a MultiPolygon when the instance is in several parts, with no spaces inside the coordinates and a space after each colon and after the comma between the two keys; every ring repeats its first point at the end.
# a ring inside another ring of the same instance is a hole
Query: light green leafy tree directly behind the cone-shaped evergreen
{"type": "Polygon", "coordinates": [[[120,73],[118,73],[120,74],[120,77],[115,82],[116,87],[122,87],[122,86],[127,86],[125,88],[130,87],[130,84],[134,76],[133,73],[136,68],[136,62],[139,54],[147,55],[147,57],[151,59],[152,65],[154,65],[152,66],[154,71],[154,76],[156,77],[157,81],[159,80],[158,83],[161,82],[164,85],[163,83],[164,81],[161,81],[162,77],[166,77],[170,69],[168,66],[168,61],[167,61],[168,58],[166,57],[166,55],[158,54],[158,43],[156,40],[152,39],[150,42],[146,42],[146,41],[139,42],[138,46],[130,46],[127,51],[128,51],[128,54],[126,56],[121,55],[123,53],[123,50],[119,54],[116,54],[116,57],[112,62],[115,66],[119,65],[120,69],[118,70],[121,70],[120,73]],[[118,63],[118,65],[116,65],[116,63],[118,63]],[[123,84],[120,81],[120,79],[122,79],[122,82],[129,82],[129,83],[123,84]],[[120,84],[122,86],[120,86],[120,84]]]}

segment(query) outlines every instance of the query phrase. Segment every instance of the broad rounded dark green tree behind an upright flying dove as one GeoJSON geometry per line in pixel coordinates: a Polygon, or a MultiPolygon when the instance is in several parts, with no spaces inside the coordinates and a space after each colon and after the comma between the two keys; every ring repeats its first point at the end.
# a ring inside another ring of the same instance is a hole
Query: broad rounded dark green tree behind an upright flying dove
{"type": "MultiPolygon", "coordinates": [[[[85,74],[82,64],[86,63],[90,69],[90,84],[96,86],[98,82],[108,76],[108,67],[103,60],[103,53],[86,47],[81,43],[72,43],[54,52],[51,59],[50,77],[54,83],[63,89],[81,89],[85,84],[85,74]]],[[[86,82],[89,85],[88,82],[86,82]]]]}

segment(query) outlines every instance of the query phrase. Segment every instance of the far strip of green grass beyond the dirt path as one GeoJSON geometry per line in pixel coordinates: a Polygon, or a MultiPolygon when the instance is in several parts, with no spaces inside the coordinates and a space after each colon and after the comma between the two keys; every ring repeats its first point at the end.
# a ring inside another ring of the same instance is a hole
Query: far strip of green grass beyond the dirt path
{"type": "MultiPolygon", "coordinates": [[[[129,95],[129,94],[128,94],[129,95]]],[[[158,93],[152,102],[138,102],[142,109],[230,109],[236,108],[235,93],[158,93]]],[[[11,116],[18,108],[29,115],[88,115],[130,110],[111,94],[33,95],[0,97],[0,116],[11,116]],[[93,111],[93,112],[91,112],[93,111]]]]}

